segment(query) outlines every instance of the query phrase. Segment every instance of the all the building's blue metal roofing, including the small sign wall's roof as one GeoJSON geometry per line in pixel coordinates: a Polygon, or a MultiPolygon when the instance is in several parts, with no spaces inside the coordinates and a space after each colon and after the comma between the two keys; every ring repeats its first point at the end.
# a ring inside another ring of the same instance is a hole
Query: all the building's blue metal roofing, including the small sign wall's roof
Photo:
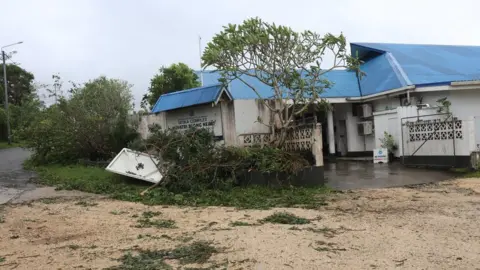
{"type": "MultiPolygon", "coordinates": [[[[323,98],[359,97],[409,85],[447,84],[480,79],[480,46],[351,43],[352,55],[364,63],[360,80],[348,70],[333,70],[324,76],[332,86],[323,98]]],[[[197,72],[200,73],[200,72],[197,72]]],[[[172,110],[216,100],[222,91],[218,71],[203,71],[206,87],[162,95],[152,112],[172,110]]],[[[273,89],[256,78],[242,77],[262,98],[271,98],[273,89]]],[[[240,80],[228,86],[233,99],[256,99],[257,94],[240,80]]],[[[227,92],[228,93],[228,92],[227,92]]]]}

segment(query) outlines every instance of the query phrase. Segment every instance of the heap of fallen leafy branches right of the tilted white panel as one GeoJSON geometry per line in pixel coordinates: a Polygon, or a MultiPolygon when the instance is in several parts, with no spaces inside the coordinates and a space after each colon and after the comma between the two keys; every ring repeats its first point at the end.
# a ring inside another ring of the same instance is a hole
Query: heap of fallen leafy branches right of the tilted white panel
{"type": "Polygon", "coordinates": [[[248,170],[293,174],[308,165],[301,155],[278,148],[217,146],[214,136],[205,129],[179,132],[153,127],[146,141],[132,147],[156,153],[163,160],[163,182],[173,192],[227,190],[248,170]]]}

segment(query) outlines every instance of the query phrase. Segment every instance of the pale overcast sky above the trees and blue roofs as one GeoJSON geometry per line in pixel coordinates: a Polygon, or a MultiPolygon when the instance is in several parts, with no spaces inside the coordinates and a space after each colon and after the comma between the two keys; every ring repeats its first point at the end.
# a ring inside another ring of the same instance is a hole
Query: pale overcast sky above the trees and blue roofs
{"type": "Polygon", "coordinates": [[[203,45],[228,23],[258,16],[350,42],[480,46],[478,0],[0,0],[0,45],[52,83],[106,75],[133,84],[138,106],[162,65],[199,68],[203,45]]]}

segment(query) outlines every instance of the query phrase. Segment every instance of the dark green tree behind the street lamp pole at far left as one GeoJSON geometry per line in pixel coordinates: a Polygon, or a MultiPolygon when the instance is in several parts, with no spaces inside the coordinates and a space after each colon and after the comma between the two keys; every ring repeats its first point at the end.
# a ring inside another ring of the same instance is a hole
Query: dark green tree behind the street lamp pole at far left
{"type": "MultiPolygon", "coordinates": [[[[3,70],[3,65],[0,65],[3,70]]],[[[2,73],[3,74],[3,73],[2,73]]],[[[33,80],[35,77],[32,73],[24,70],[23,68],[7,64],[7,82],[8,82],[8,102],[12,105],[22,105],[22,103],[31,98],[31,95],[35,93],[35,87],[33,80]]],[[[0,79],[0,101],[4,102],[4,82],[3,75],[0,79]]]]}

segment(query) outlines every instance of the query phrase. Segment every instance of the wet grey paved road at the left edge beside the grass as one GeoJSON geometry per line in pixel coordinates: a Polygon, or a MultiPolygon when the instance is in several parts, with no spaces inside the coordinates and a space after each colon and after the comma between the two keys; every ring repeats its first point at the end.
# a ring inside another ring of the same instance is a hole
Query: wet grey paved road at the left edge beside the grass
{"type": "Polygon", "coordinates": [[[0,204],[35,189],[35,185],[29,183],[34,173],[22,166],[29,156],[30,152],[22,148],[0,150],[0,204]]]}

